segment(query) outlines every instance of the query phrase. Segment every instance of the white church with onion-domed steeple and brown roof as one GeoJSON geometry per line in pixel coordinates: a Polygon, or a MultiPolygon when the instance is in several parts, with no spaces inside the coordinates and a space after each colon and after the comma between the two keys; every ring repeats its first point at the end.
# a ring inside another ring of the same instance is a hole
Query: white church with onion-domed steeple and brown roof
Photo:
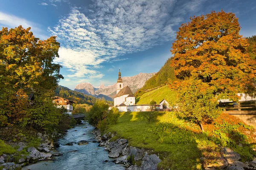
{"type": "Polygon", "coordinates": [[[116,82],[116,96],[114,97],[114,106],[131,106],[135,105],[135,97],[129,86],[123,86],[121,72],[119,70],[116,82]]]}

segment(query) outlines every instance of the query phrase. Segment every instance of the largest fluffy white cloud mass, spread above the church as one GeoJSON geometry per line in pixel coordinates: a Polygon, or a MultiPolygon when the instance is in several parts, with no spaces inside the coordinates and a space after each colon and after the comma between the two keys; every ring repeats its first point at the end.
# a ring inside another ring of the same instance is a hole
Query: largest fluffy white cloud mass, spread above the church
{"type": "Polygon", "coordinates": [[[80,8],[72,8],[70,14],[49,28],[64,46],[56,62],[73,70],[68,77],[99,79],[103,75],[97,69],[102,63],[121,61],[126,59],[121,58],[124,54],[173,40],[173,27],[183,21],[187,11],[198,10],[200,1],[189,4],[176,0],[95,0],[87,9],[87,16],[80,8]],[[175,12],[177,2],[180,15],[175,12]]]}

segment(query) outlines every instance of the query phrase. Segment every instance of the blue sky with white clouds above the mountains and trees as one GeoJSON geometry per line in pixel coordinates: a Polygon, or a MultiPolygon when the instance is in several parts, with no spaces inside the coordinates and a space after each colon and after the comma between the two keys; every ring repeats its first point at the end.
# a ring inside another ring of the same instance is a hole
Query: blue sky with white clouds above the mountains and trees
{"type": "Polygon", "coordinates": [[[256,35],[255,0],[0,0],[0,26],[56,35],[60,85],[112,85],[122,76],[157,72],[172,56],[180,24],[212,10],[233,12],[240,34],[256,35]]]}

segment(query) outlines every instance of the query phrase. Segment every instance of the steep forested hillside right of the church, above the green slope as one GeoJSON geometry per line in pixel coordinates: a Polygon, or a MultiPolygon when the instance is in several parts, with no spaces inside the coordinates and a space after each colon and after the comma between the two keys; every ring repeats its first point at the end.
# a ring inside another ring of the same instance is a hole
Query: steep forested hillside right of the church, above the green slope
{"type": "Polygon", "coordinates": [[[136,97],[144,94],[148,89],[154,89],[163,85],[166,85],[168,82],[175,79],[174,69],[170,66],[172,58],[169,58],[162,68],[148,81],[145,82],[144,86],[135,93],[136,97]]]}

